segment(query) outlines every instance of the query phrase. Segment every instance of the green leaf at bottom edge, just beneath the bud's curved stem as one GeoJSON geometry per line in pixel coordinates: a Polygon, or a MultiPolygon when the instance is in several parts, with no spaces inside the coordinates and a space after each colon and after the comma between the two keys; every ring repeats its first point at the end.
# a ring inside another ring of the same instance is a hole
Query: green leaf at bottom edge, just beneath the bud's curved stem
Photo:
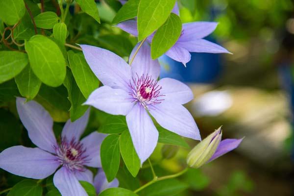
{"type": "Polygon", "coordinates": [[[157,181],[139,192],[140,196],[174,196],[188,188],[188,185],[176,179],[157,181]]]}

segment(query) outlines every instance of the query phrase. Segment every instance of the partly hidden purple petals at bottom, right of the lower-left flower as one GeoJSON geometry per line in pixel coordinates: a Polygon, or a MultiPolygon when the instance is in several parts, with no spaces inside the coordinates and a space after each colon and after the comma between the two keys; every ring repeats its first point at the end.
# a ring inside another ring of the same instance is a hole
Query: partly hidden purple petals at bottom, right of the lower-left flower
{"type": "Polygon", "coordinates": [[[118,187],[118,186],[119,186],[118,179],[115,178],[111,182],[108,182],[103,170],[102,169],[98,170],[98,173],[94,178],[94,187],[96,188],[97,194],[101,193],[105,189],[118,187]]]}

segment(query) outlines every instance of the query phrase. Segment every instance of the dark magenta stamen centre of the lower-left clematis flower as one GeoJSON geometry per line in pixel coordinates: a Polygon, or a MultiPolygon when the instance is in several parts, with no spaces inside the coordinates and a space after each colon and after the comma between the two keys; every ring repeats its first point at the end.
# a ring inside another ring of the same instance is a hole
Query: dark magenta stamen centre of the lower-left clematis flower
{"type": "Polygon", "coordinates": [[[66,137],[61,138],[59,147],[55,147],[58,161],[70,170],[84,171],[87,156],[84,155],[86,148],[74,138],[69,142],[66,137]]]}

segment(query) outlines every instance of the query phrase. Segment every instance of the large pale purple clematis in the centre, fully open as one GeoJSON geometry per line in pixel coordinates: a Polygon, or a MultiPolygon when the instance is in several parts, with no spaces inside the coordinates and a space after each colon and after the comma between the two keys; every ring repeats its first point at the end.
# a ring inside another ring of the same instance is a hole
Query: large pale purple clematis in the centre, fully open
{"type": "MultiPolygon", "coordinates": [[[[193,99],[191,89],[172,78],[157,81],[158,60],[150,57],[144,43],[129,66],[106,49],[80,45],[90,68],[104,86],[84,103],[112,115],[125,115],[128,129],[143,163],[154,150],[158,131],[148,113],[162,127],[181,136],[200,140],[199,130],[189,111],[182,106],[193,99]]],[[[138,45],[133,49],[133,56],[138,45]]]]}

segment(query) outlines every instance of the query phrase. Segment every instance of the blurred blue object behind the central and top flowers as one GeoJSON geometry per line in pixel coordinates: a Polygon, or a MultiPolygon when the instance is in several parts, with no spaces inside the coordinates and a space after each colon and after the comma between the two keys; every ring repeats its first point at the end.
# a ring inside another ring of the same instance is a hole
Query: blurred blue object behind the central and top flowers
{"type": "MultiPolygon", "coordinates": [[[[216,43],[213,39],[207,40],[216,43]]],[[[187,68],[166,55],[160,57],[159,62],[161,64],[160,77],[172,77],[182,82],[212,83],[222,70],[221,54],[193,52],[187,68]]]]}

